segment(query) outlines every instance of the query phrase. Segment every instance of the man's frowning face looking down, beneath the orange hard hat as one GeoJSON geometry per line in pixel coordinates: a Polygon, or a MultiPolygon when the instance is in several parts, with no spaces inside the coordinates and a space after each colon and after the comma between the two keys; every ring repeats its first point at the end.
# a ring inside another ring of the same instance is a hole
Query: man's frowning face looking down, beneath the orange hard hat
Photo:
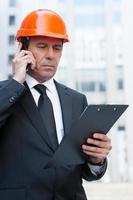
{"type": "Polygon", "coordinates": [[[62,48],[61,39],[44,36],[31,37],[28,50],[32,52],[36,66],[29,71],[29,74],[40,83],[52,78],[56,73],[62,48]]]}

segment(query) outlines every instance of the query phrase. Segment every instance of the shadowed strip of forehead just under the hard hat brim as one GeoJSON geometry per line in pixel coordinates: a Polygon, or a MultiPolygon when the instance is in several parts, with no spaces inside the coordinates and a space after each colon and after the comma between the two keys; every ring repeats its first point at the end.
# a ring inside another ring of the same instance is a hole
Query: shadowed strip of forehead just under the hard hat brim
{"type": "Polygon", "coordinates": [[[53,37],[45,37],[45,36],[35,36],[35,37],[30,37],[30,42],[35,42],[35,43],[61,43],[62,44],[62,39],[59,38],[53,38],[53,37]]]}

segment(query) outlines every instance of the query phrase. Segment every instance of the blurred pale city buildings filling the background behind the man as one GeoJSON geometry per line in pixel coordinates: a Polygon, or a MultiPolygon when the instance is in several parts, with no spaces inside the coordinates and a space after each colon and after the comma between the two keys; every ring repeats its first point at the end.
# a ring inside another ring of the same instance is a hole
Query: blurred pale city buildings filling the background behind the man
{"type": "MultiPolygon", "coordinates": [[[[129,57],[125,59],[127,52],[123,50],[124,44],[131,43],[128,34],[124,40],[122,32],[130,29],[128,24],[123,26],[127,16],[123,15],[125,4],[127,10],[133,8],[131,0],[52,0],[52,3],[49,0],[34,0],[34,3],[33,0],[0,0],[0,79],[11,75],[11,60],[16,49],[14,34],[21,19],[33,9],[50,8],[63,16],[71,41],[64,46],[56,78],[83,92],[89,104],[131,103],[129,70],[125,71],[129,57]]],[[[132,18],[131,15],[132,11],[132,18]]],[[[132,58],[130,55],[130,61],[132,58]]],[[[110,131],[113,150],[103,181],[133,180],[131,115],[132,112],[130,117],[123,115],[110,131]]]]}

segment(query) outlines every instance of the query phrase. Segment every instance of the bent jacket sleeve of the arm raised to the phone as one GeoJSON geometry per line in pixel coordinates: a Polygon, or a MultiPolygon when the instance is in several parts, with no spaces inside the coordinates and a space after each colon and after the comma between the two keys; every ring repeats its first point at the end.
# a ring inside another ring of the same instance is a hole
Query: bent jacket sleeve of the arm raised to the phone
{"type": "Polygon", "coordinates": [[[13,112],[16,102],[26,91],[25,86],[14,79],[0,82],[0,127],[13,112]]]}

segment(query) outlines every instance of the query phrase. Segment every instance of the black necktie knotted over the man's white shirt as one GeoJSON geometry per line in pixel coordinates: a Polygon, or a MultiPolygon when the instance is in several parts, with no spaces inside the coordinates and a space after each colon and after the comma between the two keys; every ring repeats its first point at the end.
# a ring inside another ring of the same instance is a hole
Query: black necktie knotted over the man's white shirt
{"type": "Polygon", "coordinates": [[[56,150],[58,147],[58,141],[52,103],[46,94],[46,87],[44,85],[38,84],[34,86],[34,88],[40,93],[38,109],[48,131],[53,148],[56,150]]]}

